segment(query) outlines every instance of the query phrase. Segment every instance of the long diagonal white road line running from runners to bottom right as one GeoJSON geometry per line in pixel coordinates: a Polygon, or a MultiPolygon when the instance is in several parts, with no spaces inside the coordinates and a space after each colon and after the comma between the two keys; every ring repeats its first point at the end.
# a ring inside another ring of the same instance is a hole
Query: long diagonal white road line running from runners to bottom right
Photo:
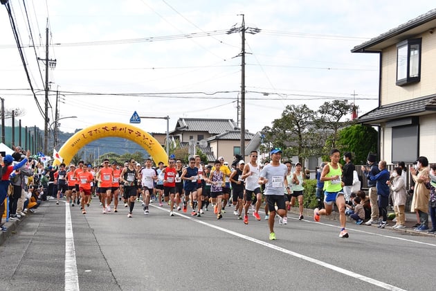
{"type": "MultiPolygon", "coordinates": [[[[163,211],[170,212],[170,210],[163,209],[161,207],[154,206],[154,205],[152,205],[152,206],[155,207],[155,208],[161,209],[163,211]]],[[[216,225],[213,225],[213,224],[210,224],[208,222],[204,222],[204,221],[198,220],[197,218],[194,218],[194,217],[189,217],[188,215],[185,215],[185,214],[181,214],[181,213],[174,213],[174,214],[175,215],[179,215],[182,218],[186,218],[186,219],[192,220],[194,222],[198,222],[200,224],[206,225],[207,227],[212,227],[213,229],[217,229],[219,231],[223,231],[225,233],[229,233],[229,234],[231,234],[233,236],[237,236],[238,238],[244,238],[244,240],[249,240],[249,241],[251,241],[253,243],[257,243],[259,245],[264,245],[265,247],[269,247],[270,249],[275,249],[275,250],[277,250],[279,252],[282,252],[284,254],[289,254],[291,256],[295,256],[296,258],[301,258],[302,260],[308,261],[310,263],[314,263],[316,265],[320,265],[322,267],[326,267],[329,270],[333,270],[335,272],[338,272],[338,273],[341,273],[341,274],[345,274],[345,275],[350,276],[350,277],[352,277],[354,279],[359,279],[361,281],[370,283],[372,285],[376,285],[376,286],[378,286],[380,288],[384,288],[386,290],[403,290],[403,289],[401,289],[401,288],[399,288],[397,286],[390,285],[388,283],[384,283],[384,282],[378,281],[376,279],[372,279],[370,277],[363,276],[361,274],[357,274],[357,273],[351,272],[349,270],[345,270],[345,269],[343,269],[341,267],[337,267],[335,265],[331,265],[329,263],[325,263],[323,261],[317,260],[316,258],[311,258],[311,257],[305,256],[303,254],[298,254],[296,252],[292,252],[289,249],[284,249],[282,247],[278,247],[276,245],[272,245],[271,243],[266,243],[263,240],[257,240],[257,238],[252,238],[251,236],[246,236],[246,235],[244,235],[242,233],[238,233],[236,231],[231,231],[229,229],[224,229],[223,227],[217,227],[216,225]]]]}

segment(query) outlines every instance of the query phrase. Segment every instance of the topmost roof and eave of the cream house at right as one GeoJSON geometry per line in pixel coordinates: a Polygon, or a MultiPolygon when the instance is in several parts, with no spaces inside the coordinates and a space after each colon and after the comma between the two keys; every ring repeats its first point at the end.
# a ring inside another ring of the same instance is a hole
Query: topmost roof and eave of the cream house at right
{"type": "Polygon", "coordinates": [[[423,15],[419,15],[405,24],[392,28],[381,35],[370,39],[363,44],[354,46],[352,53],[363,53],[365,51],[380,51],[382,48],[400,42],[408,37],[413,37],[436,26],[436,8],[423,15]]]}

